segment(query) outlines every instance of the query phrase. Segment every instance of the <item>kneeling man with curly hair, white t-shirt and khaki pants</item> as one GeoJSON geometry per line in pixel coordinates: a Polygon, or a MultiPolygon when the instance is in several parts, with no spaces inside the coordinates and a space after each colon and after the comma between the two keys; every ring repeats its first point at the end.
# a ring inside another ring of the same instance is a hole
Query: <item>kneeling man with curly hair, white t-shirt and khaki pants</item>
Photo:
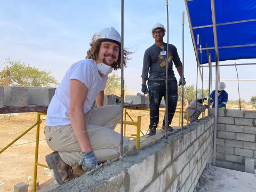
{"type": "MultiPolygon", "coordinates": [[[[114,129],[121,107],[103,106],[103,96],[108,74],[121,68],[121,36],[108,27],[93,36],[90,46],[86,59],[67,70],[47,110],[44,131],[54,152],[46,162],[60,185],[78,177],[73,165],[89,171],[119,156],[120,134],[114,129]],[[98,108],[91,109],[94,100],[98,108]]],[[[125,62],[127,52],[124,55],[125,62]]],[[[123,146],[126,152],[126,138],[123,146]]]]}

